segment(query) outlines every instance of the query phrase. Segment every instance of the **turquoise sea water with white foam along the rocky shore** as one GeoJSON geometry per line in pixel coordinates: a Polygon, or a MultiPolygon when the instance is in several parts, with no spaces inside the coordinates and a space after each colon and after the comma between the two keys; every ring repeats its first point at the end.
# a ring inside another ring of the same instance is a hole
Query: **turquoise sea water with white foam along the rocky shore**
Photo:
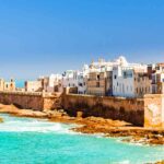
{"type": "Polygon", "coordinates": [[[164,160],[164,145],[70,131],[74,125],[0,115],[0,164],[142,164],[164,160]]]}

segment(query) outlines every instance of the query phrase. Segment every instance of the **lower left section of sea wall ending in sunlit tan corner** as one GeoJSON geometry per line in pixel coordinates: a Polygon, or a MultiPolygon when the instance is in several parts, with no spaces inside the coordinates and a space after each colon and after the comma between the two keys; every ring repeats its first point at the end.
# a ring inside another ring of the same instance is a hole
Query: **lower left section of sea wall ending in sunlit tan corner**
{"type": "Polygon", "coordinates": [[[58,108],[57,96],[32,92],[0,92],[0,103],[13,104],[24,109],[46,110],[58,108]]]}

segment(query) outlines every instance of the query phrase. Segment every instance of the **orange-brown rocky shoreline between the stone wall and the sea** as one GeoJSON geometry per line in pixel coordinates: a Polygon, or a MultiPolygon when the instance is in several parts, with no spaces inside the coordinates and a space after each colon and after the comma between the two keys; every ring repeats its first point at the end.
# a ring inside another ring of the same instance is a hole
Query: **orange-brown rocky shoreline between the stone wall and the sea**
{"type": "Polygon", "coordinates": [[[126,137],[125,142],[142,144],[164,144],[164,129],[145,129],[133,127],[131,124],[120,120],[104,119],[99,117],[70,117],[63,110],[37,112],[32,109],[19,109],[14,105],[0,104],[0,113],[11,114],[17,117],[48,118],[49,121],[78,124],[71,130],[82,133],[104,133],[105,137],[126,137]]]}

